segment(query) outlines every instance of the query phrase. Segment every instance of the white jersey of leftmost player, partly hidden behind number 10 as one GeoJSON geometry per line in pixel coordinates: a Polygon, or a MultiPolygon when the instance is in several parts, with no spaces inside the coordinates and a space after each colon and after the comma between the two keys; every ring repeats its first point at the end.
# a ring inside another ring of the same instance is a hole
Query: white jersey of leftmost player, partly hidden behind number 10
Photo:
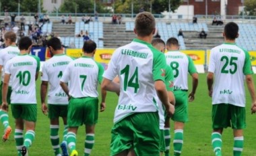
{"type": "MultiPolygon", "coordinates": [[[[20,50],[17,46],[8,46],[7,48],[4,48],[3,50],[0,50],[0,65],[3,66],[2,71],[2,81],[3,76],[5,75],[5,64],[7,61],[11,60],[14,56],[17,56],[20,54],[20,50]]],[[[11,86],[11,81],[9,81],[9,86],[11,86]]]]}

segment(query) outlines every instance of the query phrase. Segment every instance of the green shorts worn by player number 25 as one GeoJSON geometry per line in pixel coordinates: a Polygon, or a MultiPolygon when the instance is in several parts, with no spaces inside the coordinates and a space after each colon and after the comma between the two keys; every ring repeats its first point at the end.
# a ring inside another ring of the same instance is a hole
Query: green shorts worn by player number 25
{"type": "Polygon", "coordinates": [[[232,104],[212,105],[212,128],[245,129],[245,107],[232,104]]]}

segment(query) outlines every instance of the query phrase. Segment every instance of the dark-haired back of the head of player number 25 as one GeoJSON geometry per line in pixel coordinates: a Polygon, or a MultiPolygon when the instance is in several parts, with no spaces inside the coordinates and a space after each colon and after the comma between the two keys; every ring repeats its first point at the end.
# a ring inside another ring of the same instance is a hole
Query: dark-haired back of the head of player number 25
{"type": "Polygon", "coordinates": [[[229,40],[235,40],[238,35],[238,25],[234,22],[229,22],[224,27],[225,37],[229,40]]]}

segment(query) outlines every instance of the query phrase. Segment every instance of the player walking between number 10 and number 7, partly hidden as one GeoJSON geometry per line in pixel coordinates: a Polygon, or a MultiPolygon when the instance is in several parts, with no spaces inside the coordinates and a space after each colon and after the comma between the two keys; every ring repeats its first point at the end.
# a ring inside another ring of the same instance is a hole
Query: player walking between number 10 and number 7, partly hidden
{"type": "Polygon", "coordinates": [[[68,155],[67,151],[67,104],[69,103],[67,94],[63,91],[59,85],[59,80],[63,76],[63,72],[67,67],[67,64],[73,59],[69,56],[63,54],[63,48],[61,46],[61,41],[57,37],[52,37],[47,42],[47,47],[49,48],[53,58],[44,62],[42,66],[42,84],[41,84],[41,103],[42,112],[47,114],[49,112],[49,119],[51,122],[51,144],[55,155],[61,156],[59,150],[59,117],[62,117],[65,126],[63,133],[63,142],[61,143],[61,149],[63,155],[68,155]],[[46,106],[45,98],[46,92],[50,84],[48,93],[48,108],[46,106]]]}

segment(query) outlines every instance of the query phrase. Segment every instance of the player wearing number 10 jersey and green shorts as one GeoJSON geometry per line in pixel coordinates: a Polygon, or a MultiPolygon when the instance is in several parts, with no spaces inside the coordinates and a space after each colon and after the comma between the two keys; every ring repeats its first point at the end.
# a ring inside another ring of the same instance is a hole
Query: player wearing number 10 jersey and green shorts
{"type": "Polygon", "coordinates": [[[36,126],[36,80],[40,69],[40,59],[28,55],[32,46],[29,37],[19,42],[20,54],[9,60],[5,66],[3,80],[3,110],[8,110],[7,92],[11,88],[11,112],[15,119],[15,143],[19,155],[28,155],[28,148],[34,141],[36,126]],[[24,128],[26,133],[23,137],[24,128]]]}

